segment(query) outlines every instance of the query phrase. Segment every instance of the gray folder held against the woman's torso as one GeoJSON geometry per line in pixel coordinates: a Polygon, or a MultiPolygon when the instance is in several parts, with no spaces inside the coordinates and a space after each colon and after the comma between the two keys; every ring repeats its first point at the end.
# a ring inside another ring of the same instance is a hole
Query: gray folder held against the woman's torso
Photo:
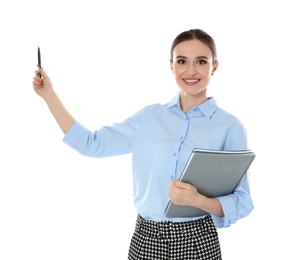
{"type": "MultiPolygon", "coordinates": [[[[218,151],[194,148],[179,180],[194,185],[198,192],[213,198],[233,193],[247,172],[255,154],[251,150],[218,151]]],[[[197,217],[207,212],[169,200],[165,215],[170,218],[197,217]]]]}

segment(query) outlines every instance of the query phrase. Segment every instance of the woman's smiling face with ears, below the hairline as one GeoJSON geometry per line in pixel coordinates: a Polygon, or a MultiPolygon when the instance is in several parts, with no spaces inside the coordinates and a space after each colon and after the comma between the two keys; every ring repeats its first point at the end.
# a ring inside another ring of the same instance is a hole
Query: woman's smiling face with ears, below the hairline
{"type": "Polygon", "coordinates": [[[196,97],[204,102],[207,86],[217,67],[217,62],[213,64],[212,51],[203,42],[194,39],[178,43],[173,50],[171,69],[181,98],[196,97]]]}

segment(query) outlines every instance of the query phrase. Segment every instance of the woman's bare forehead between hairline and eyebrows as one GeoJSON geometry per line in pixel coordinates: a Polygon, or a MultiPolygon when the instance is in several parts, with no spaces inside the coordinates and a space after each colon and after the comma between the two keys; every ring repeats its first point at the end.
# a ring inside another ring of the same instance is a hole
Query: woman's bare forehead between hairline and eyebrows
{"type": "Polygon", "coordinates": [[[173,50],[173,55],[175,58],[176,56],[192,58],[197,56],[212,57],[212,51],[205,43],[200,40],[193,39],[178,43],[173,50]]]}

